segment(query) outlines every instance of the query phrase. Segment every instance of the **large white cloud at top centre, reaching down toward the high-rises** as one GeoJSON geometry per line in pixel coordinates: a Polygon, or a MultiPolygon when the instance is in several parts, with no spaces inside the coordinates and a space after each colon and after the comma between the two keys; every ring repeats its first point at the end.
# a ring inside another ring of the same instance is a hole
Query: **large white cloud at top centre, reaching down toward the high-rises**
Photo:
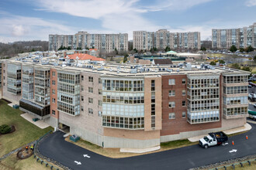
{"type": "MultiPolygon", "coordinates": [[[[139,0],[39,0],[36,5],[40,10],[61,12],[69,15],[99,19],[102,27],[111,32],[127,32],[129,39],[133,31],[156,31],[153,21],[145,19],[142,13],[159,10],[184,10],[212,0],[156,0],[154,6],[140,6],[139,0]]],[[[145,3],[145,2],[144,2],[145,3]]]]}

